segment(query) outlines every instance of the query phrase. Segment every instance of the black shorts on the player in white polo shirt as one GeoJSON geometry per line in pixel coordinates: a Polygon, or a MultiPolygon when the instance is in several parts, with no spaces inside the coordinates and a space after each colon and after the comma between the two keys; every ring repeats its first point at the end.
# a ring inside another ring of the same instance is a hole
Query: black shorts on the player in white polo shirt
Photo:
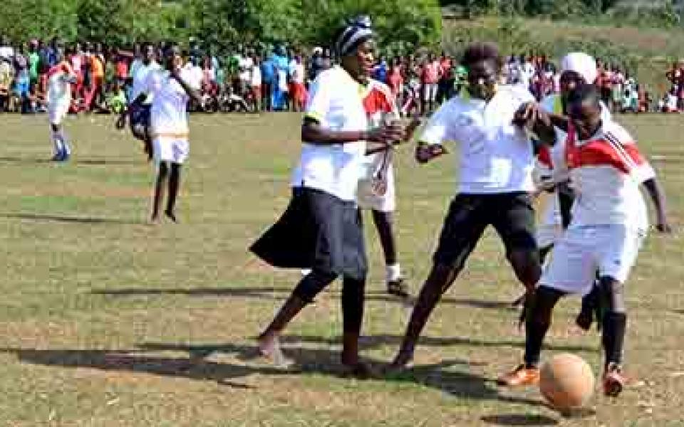
{"type": "Polygon", "coordinates": [[[433,262],[460,270],[489,225],[499,233],[507,254],[537,253],[528,193],[458,194],[449,207],[433,262]]]}

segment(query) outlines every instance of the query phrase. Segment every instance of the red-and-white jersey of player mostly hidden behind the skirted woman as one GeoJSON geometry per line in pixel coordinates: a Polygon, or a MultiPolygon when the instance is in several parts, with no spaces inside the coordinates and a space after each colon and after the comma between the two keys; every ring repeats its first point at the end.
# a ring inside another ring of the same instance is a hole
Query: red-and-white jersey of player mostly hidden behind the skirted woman
{"type": "MultiPolygon", "coordinates": [[[[371,79],[364,88],[363,109],[368,116],[368,126],[372,128],[382,126],[387,120],[398,119],[399,110],[394,102],[392,90],[388,85],[371,79]]],[[[367,174],[374,174],[382,167],[385,160],[384,153],[366,156],[367,174]]]]}

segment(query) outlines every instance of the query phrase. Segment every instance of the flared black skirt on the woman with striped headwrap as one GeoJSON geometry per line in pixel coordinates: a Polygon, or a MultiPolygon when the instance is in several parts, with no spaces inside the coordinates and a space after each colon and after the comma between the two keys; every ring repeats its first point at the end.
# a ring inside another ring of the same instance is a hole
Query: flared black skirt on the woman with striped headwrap
{"type": "Polygon", "coordinates": [[[293,189],[285,213],[249,250],[279,268],[316,268],[357,280],[368,270],[356,204],[304,187],[293,189]]]}

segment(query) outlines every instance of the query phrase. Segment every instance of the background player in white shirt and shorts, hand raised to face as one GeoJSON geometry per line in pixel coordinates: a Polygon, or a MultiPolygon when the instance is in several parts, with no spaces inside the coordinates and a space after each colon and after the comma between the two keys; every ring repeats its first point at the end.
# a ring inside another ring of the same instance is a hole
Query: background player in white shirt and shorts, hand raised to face
{"type": "Polygon", "coordinates": [[[168,199],[164,214],[177,222],[175,202],[180,185],[180,169],[190,151],[188,142],[187,102],[190,97],[200,101],[199,88],[188,83],[182,69],[178,46],[169,46],[164,53],[164,69],[152,70],[140,95],[133,101],[138,107],[152,95],[150,128],[152,152],[157,164],[157,181],[152,204],[152,222],[159,221],[164,187],[168,181],[168,199]]]}

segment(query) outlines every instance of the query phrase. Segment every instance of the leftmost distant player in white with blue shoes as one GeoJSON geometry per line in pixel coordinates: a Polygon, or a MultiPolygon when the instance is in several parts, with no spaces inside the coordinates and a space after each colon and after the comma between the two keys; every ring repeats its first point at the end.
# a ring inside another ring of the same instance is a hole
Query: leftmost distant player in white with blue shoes
{"type": "Polygon", "coordinates": [[[71,156],[71,148],[62,126],[63,120],[71,107],[71,85],[76,83],[76,73],[71,64],[64,58],[63,48],[56,51],[57,65],[48,70],[48,90],[46,103],[52,142],[55,149],[56,162],[66,162],[71,156]]]}

